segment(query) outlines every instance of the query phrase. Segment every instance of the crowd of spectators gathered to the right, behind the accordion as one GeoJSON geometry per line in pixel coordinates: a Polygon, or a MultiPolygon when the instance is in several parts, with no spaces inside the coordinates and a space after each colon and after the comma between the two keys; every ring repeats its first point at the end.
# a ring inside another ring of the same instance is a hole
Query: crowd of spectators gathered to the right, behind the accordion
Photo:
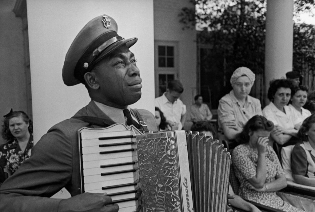
{"type": "MultiPolygon", "coordinates": [[[[309,93],[308,88],[301,85],[298,72],[288,72],[286,78],[270,82],[267,93],[270,103],[262,109],[260,100],[249,95],[255,74],[249,68],[237,68],[230,79],[232,91],[219,101],[218,125],[211,122],[213,114],[203,103],[203,97],[196,95],[190,110],[193,123],[190,130],[218,138],[232,151],[232,167],[240,183],[237,193],[240,197],[283,211],[304,211],[285,202],[276,193],[287,186],[288,180],[279,159],[281,149],[289,146],[290,160],[284,163],[290,163],[291,169],[292,151],[291,180],[315,186],[315,116],[311,115],[315,112],[315,92],[309,93]]],[[[168,109],[157,104],[157,99],[156,107],[166,114],[166,120],[171,120],[166,122],[181,127],[186,108],[177,111],[181,115],[177,115],[177,120],[170,116],[176,111],[174,103],[180,101],[177,98],[183,90],[180,91],[171,95],[172,99],[168,97],[171,90],[157,98],[163,98],[168,109]]],[[[179,103],[182,105],[181,101],[179,103]]]]}

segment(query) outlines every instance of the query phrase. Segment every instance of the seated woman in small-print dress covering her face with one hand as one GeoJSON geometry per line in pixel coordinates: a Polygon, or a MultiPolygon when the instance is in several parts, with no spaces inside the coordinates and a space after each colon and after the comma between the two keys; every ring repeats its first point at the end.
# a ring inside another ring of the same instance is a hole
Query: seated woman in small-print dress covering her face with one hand
{"type": "Polygon", "coordinates": [[[277,194],[287,186],[280,162],[268,137],[274,125],[255,115],[244,126],[238,145],[232,152],[232,164],[240,182],[239,195],[268,207],[283,211],[303,211],[284,202],[277,194]]]}

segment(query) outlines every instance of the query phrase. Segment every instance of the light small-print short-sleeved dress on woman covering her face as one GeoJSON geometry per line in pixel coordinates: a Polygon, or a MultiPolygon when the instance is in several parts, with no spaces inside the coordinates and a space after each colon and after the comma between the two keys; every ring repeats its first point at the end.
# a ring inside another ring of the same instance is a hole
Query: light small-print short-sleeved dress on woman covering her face
{"type": "MultiPolygon", "coordinates": [[[[235,175],[240,181],[238,195],[244,199],[260,203],[272,208],[280,209],[287,212],[302,212],[304,210],[297,209],[287,202],[284,202],[274,191],[260,192],[249,190],[245,186],[245,182],[256,176],[256,167],[258,160],[257,150],[253,150],[248,144],[238,145],[232,153],[232,163],[235,175]]],[[[283,169],[280,165],[276,153],[271,146],[266,148],[266,183],[272,182],[275,176],[282,175],[283,169]]]]}

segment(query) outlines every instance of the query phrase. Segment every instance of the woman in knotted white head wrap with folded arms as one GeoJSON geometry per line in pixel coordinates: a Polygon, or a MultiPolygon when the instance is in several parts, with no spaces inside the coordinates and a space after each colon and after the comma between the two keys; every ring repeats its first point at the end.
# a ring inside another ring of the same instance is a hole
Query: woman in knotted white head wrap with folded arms
{"type": "MultiPolygon", "coordinates": [[[[255,74],[246,67],[237,68],[230,79],[233,90],[219,101],[218,122],[224,137],[233,140],[254,115],[262,115],[259,99],[249,96],[255,82],[255,74]]],[[[237,144],[229,142],[232,149],[237,144]]]]}

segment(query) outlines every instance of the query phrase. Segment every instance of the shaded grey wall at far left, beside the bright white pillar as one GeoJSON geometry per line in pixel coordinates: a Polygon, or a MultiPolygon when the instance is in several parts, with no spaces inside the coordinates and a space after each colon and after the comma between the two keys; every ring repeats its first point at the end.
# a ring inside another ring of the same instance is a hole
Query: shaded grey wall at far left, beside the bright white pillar
{"type": "Polygon", "coordinates": [[[14,4],[12,0],[0,1],[0,126],[11,108],[31,115],[26,104],[22,19],[12,11],[14,4]]]}

